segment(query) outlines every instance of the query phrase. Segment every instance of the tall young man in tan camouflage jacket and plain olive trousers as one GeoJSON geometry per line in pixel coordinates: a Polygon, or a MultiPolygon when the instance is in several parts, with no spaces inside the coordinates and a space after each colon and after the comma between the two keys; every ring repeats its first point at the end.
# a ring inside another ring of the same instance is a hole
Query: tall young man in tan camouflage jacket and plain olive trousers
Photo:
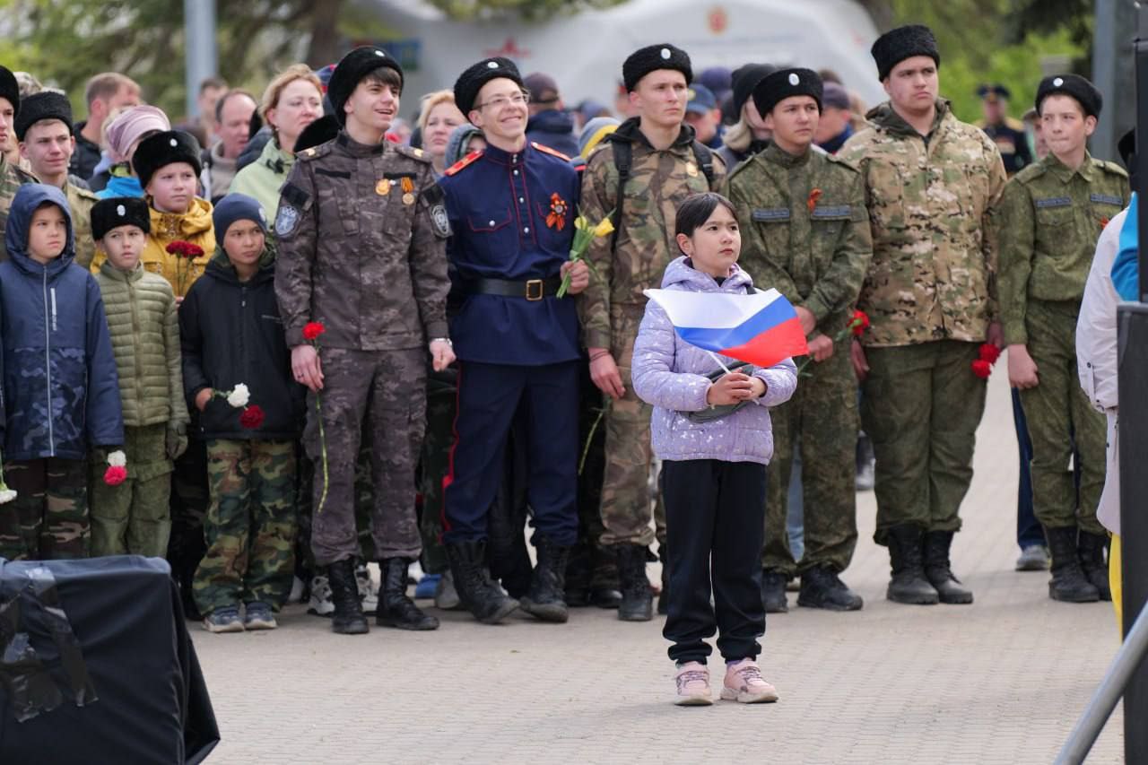
{"type": "Polygon", "coordinates": [[[983,342],[1000,345],[988,221],[1004,165],[996,145],[937,96],[940,54],[926,26],[886,32],[872,56],[890,101],[838,156],[864,176],[872,230],[858,301],[871,326],[853,362],[877,458],[874,538],[890,548],[890,600],[970,603],[949,547],[985,405],[971,364],[983,342]]]}

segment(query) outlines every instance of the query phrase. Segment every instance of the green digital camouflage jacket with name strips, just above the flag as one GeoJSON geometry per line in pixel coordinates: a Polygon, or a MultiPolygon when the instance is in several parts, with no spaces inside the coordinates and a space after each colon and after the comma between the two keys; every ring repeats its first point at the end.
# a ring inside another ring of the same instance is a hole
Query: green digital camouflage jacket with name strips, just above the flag
{"type": "Polygon", "coordinates": [[[836,335],[872,260],[861,173],[836,156],[770,145],[730,173],[726,195],[742,223],[738,264],[836,335]]]}

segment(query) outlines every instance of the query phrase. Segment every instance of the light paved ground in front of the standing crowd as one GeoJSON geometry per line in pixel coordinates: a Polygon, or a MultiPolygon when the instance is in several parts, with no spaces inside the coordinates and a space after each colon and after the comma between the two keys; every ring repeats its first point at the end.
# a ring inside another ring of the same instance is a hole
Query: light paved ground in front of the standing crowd
{"type": "MultiPolygon", "coordinates": [[[[661,619],[574,611],[490,627],[437,612],[433,633],[329,632],[290,606],[274,632],[193,628],[223,741],[211,763],[1050,763],[1118,648],[1109,604],[1054,603],[1013,570],[1016,438],[990,382],[954,569],[968,606],[885,601],[871,493],[845,579],[862,611],[770,616],[761,664],[781,701],[669,703],[661,619]]],[[[650,567],[657,578],[657,566],[650,567]]],[[[718,674],[718,664],[714,664],[718,674]]],[[[720,685],[720,675],[716,682],[720,685]]],[[[1123,762],[1119,712],[1089,763],[1123,762]]]]}

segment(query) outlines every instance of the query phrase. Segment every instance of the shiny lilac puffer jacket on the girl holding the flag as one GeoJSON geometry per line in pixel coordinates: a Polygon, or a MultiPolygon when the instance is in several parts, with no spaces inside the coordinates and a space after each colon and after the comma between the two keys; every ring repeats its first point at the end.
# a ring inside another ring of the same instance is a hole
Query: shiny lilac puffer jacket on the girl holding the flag
{"type": "MultiPolygon", "coordinates": [[[[734,266],[721,286],[707,273],[696,271],[678,257],[666,268],[664,289],[727,292],[745,294],[753,284],[750,275],[734,266]]],[[[726,364],[735,360],[722,356],[726,364]]],[[[682,412],[701,411],[709,379],[720,369],[701,348],[687,343],[674,332],[666,311],[654,301],[646,303],[645,316],[634,343],[630,374],[634,392],[653,404],[653,451],[661,459],[722,459],[768,464],[774,456],[774,434],[769,407],[789,401],[797,388],[797,366],[786,358],[769,369],[758,369],[754,377],[766,384],[766,394],[748,407],[708,423],[695,423],[682,412]]]]}

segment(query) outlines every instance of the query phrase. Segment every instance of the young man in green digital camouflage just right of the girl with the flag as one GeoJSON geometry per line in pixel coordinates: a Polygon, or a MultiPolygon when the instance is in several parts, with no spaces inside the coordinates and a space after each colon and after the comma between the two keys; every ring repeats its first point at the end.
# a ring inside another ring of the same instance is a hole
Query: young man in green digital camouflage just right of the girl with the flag
{"type": "Polygon", "coordinates": [[[822,83],[808,69],[782,69],[753,91],[773,142],[726,181],[738,208],[742,265],[762,289],[778,289],[797,308],[812,364],[797,393],[770,411],[774,457],[766,490],[762,597],[785,611],[785,582],[798,571],[798,604],[835,611],[861,608],[838,578],[856,547],[856,378],[848,339],[861,281],[872,258],[861,173],[810,148],[822,83]],[[790,551],[785,518],[794,442],[800,439],[805,493],[805,555],[790,551]]]}

